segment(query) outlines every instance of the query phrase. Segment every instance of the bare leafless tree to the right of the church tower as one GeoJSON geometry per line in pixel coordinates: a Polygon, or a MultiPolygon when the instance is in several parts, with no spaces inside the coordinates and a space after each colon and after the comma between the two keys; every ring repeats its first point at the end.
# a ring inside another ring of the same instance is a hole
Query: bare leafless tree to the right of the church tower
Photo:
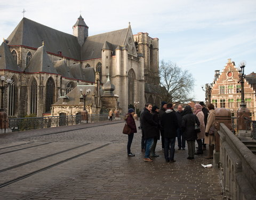
{"type": "Polygon", "coordinates": [[[171,103],[184,103],[193,100],[195,80],[188,70],[182,70],[176,63],[161,61],[159,68],[162,100],[171,103]]]}

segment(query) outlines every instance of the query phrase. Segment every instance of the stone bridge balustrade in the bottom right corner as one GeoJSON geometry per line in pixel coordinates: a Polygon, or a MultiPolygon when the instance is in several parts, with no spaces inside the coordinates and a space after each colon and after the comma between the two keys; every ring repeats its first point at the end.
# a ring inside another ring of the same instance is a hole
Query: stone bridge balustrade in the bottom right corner
{"type": "Polygon", "coordinates": [[[256,197],[256,155],[220,124],[221,185],[225,199],[251,200],[256,197]]]}

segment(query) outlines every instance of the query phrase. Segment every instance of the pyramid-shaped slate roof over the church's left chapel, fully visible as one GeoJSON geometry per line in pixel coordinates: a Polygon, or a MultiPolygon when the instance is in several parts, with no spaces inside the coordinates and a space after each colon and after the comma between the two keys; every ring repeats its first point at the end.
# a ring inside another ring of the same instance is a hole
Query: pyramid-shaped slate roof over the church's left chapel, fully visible
{"type": "Polygon", "coordinates": [[[28,63],[28,66],[25,68],[28,73],[51,73],[51,74],[59,74],[57,70],[53,67],[53,64],[49,58],[45,50],[45,46],[40,46],[31,60],[28,63]]]}

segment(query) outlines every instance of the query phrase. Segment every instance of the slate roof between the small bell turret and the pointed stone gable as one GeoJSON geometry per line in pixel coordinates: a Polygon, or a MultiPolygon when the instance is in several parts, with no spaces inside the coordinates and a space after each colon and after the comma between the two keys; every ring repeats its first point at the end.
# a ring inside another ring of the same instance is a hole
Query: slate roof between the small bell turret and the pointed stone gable
{"type": "Polygon", "coordinates": [[[125,28],[87,37],[82,46],[81,60],[101,58],[101,50],[103,49],[104,45],[107,48],[112,48],[111,50],[113,50],[113,53],[115,53],[115,49],[118,47],[118,45],[124,45],[128,29],[129,28],[125,28]],[[106,41],[108,42],[107,46],[105,44],[106,41]]]}

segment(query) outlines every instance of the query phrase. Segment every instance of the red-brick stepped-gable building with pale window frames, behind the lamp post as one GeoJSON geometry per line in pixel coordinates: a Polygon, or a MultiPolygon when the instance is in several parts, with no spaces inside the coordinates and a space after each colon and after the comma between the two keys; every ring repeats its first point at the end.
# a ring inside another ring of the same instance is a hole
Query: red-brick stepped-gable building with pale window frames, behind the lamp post
{"type": "MultiPolygon", "coordinates": [[[[241,84],[239,81],[239,72],[235,62],[228,59],[227,65],[221,73],[215,70],[215,77],[212,86],[211,102],[217,108],[228,108],[231,115],[236,116],[237,110],[241,104],[241,84]]],[[[256,116],[256,90],[255,73],[246,75],[244,80],[244,100],[246,107],[249,108],[252,119],[256,116]]]]}

